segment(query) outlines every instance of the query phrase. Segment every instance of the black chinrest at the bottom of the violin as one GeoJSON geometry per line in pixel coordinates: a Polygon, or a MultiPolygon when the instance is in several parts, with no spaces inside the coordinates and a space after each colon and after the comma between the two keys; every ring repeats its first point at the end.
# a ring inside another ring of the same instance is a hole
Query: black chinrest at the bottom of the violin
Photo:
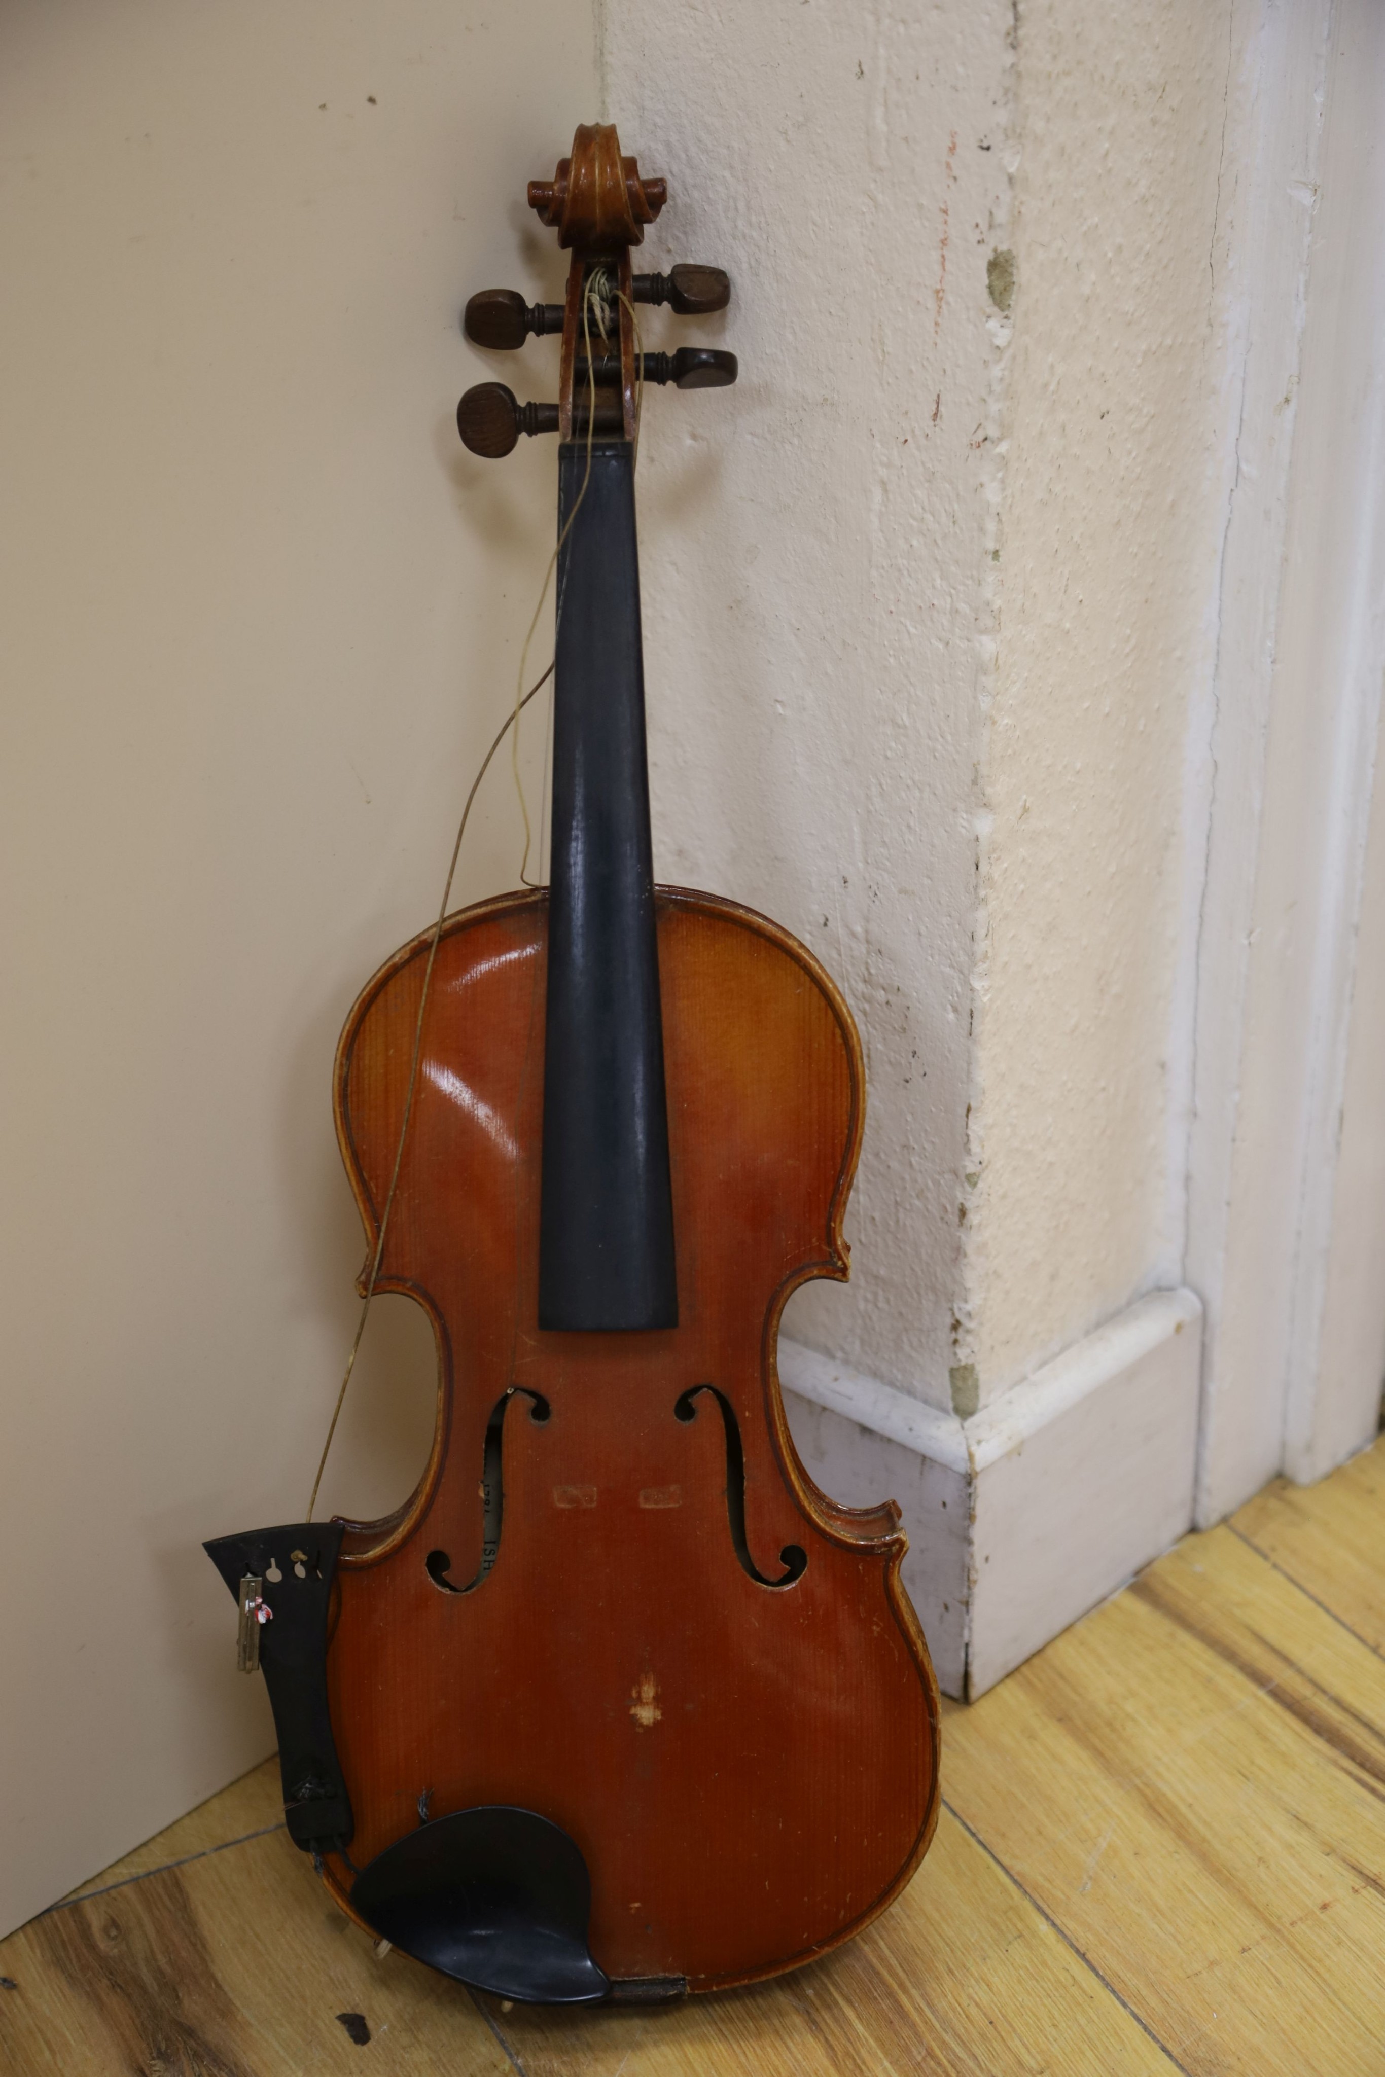
{"type": "Polygon", "coordinates": [[[588,1863],[536,1811],[434,1817],[361,1869],[351,1905],[405,1954],[496,1998],[594,2004],[610,1992],[588,1950],[588,1863]]]}

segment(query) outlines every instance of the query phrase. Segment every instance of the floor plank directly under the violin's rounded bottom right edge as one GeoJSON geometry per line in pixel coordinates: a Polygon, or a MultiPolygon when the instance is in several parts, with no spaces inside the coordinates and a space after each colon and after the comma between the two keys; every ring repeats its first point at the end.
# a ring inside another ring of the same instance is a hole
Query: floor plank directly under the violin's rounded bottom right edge
{"type": "Polygon", "coordinates": [[[945,1811],[885,1917],[775,1984],[669,2008],[490,2004],[525,2077],[1169,2077],[1171,2062],[945,1811]]]}

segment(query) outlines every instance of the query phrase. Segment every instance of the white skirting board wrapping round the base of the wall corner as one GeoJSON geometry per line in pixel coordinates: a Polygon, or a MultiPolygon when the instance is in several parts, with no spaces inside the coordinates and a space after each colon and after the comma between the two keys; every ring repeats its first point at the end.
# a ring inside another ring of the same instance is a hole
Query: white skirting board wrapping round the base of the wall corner
{"type": "Polygon", "coordinates": [[[781,1340],[816,1483],[903,1510],[945,1695],[984,1695],[1192,1525],[1200,1352],[1198,1298],[1152,1292],[959,1421],[781,1340]]]}

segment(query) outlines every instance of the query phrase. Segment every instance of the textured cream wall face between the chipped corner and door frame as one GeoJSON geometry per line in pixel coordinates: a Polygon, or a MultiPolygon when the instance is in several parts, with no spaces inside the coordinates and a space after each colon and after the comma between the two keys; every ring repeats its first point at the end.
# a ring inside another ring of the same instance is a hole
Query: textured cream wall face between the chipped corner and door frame
{"type": "MultiPolygon", "coordinates": [[[[978,1398],[1182,1269],[1184,756],[1227,444],[1229,6],[1026,0],[980,771],[978,1398]],[[1173,1171],[1173,1174],[1171,1174],[1173,1171]]],[[[972,1182],[970,1178],[976,1178],[972,1182]]]]}

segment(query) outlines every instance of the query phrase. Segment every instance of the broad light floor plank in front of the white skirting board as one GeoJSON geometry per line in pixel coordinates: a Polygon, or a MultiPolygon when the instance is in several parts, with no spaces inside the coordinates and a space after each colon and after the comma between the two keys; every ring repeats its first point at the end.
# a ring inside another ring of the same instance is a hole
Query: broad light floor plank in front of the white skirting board
{"type": "Polygon", "coordinates": [[[945,1795],[1196,2077],[1385,2069],[1385,1662],[1229,1529],[947,1724],[945,1795]]]}

